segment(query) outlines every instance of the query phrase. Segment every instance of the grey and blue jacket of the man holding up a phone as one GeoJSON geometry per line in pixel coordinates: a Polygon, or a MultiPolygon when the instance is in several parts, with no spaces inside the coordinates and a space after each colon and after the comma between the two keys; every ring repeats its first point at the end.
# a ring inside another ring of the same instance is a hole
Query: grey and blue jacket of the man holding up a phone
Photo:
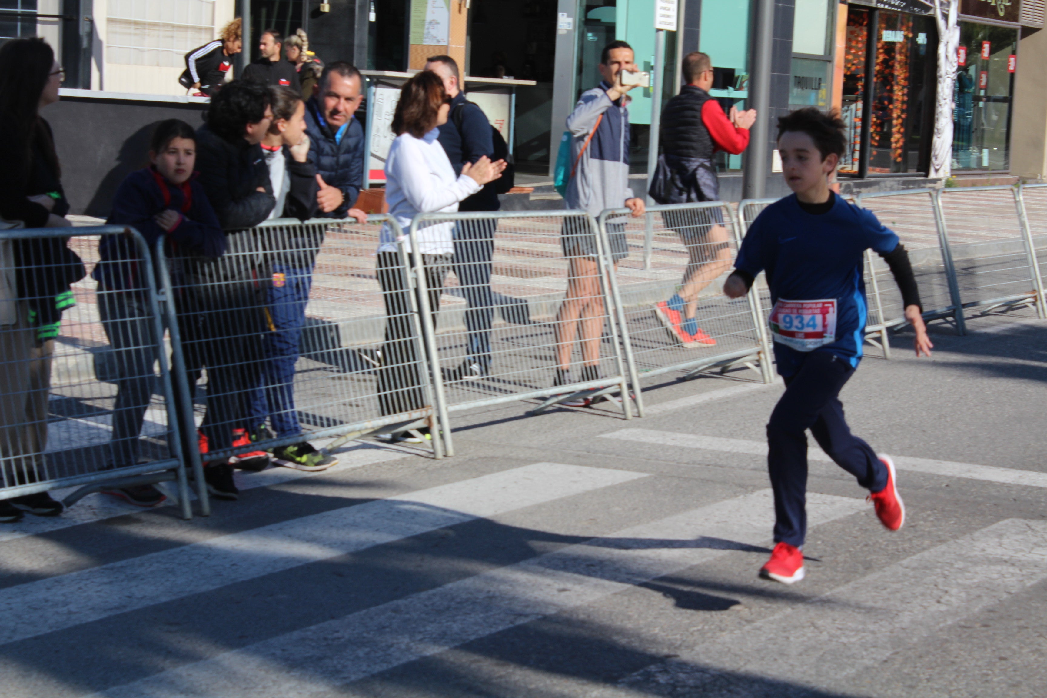
{"type": "Polygon", "coordinates": [[[573,136],[572,166],[578,161],[575,176],[567,183],[567,208],[582,208],[593,216],[599,216],[605,208],[621,208],[626,199],[636,196],[629,188],[628,97],[611,102],[607,96],[609,89],[610,85],[601,82],[599,87],[583,92],[575,111],[567,116],[567,131],[573,136]],[[600,114],[603,119],[578,160],[578,153],[600,114]]]}

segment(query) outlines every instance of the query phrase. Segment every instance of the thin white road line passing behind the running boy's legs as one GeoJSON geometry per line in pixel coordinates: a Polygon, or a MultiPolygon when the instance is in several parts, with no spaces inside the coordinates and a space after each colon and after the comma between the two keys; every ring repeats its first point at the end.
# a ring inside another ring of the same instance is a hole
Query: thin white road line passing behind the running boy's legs
{"type": "MultiPolygon", "coordinates": [[[[621,441],[659,444],[663,446],[680,446],[705,451],[767,455],[767,445],[765,443],[742,441],[740,438],[720,438],[718,436],[683,434],[674,431],[656,431],[653,429],[621,429],[608,434],[601,434],[601,436],[603,438],[618,438],[621,441]]],[[[832,461],[832,458],[826,455],[825,451],[814,446],[807,451],[807,457],[811,460],[832,461]]],[[[943,475],[945,477],[962,477],[987,482],[1047,488],[1047,473],[1038,473],[1031,470],[977,466],[970,463],[953,463],[951,460],[935,460],[932,458],[914,458],[908,455],[892,455],[891,457],[894,458],[894,463],[899,471],[911,470],[913,472],[943,475]]]]}

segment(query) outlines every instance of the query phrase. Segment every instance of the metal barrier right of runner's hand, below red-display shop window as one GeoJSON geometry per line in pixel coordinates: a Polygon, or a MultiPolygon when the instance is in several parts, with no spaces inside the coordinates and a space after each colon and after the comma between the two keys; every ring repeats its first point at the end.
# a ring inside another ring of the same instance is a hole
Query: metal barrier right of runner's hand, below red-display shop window
{"type": "Polygon", "coordinates": [[[1044,317],[1037,303],[1043,286],[1019,190],[954,187],[941,189],[938,198],[963,308],[988,313],[1035,305],[1044,317]]]}

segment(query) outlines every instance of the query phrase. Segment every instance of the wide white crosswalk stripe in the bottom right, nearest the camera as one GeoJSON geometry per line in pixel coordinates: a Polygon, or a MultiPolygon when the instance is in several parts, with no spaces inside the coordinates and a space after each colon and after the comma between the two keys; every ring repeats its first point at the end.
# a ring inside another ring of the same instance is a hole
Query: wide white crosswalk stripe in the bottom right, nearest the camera
{"type": "MultiPolygon", "coordinates": [[[[1047,521],[1007,519],[705,643],[658,669],[659,682],[674,688],[676,673],[690,695],[701,695],[715,668],[831,690],[1045,578],[1047,521]]],[[[645,678],[642,671],[622,683],[645,678]]]]}

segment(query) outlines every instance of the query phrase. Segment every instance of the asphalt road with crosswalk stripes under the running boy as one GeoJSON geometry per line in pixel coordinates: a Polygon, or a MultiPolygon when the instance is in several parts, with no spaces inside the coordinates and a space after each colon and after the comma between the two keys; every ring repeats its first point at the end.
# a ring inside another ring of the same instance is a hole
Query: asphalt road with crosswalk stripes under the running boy
{"type": "Polygon", "coordinates": [[[1047,321],[968,330],[863,362],[843,401],[907,523],[812,452],[794,586],[756,576],[781,385],[666,376],[645,419],[466,413],[453,458],[355,443],[206,519],[92,495],[5,524],[0,694],[1047,695],[1047,321]]]}

